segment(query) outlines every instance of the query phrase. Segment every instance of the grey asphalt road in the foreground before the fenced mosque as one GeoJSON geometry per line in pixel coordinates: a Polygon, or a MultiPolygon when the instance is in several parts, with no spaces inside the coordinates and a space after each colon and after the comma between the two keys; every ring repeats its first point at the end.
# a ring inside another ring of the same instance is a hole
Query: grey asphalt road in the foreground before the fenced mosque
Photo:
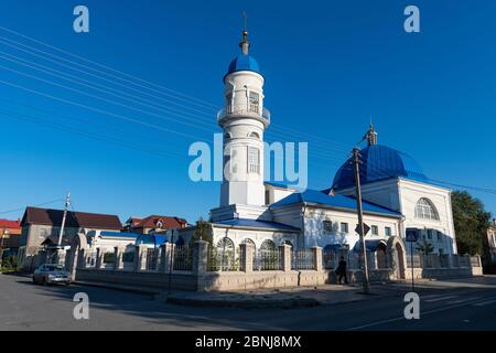
{"type": "Polygon", "coordinates": [[[0,275],[0,330],[496,330],[496,277],[419,287],[420,320],[405,319],[403,291],[308,309],[187,308],[145,295],[43,287],[0,275]],[[74,319],[77,292],[89,297],[89,320],[74,319]]]}

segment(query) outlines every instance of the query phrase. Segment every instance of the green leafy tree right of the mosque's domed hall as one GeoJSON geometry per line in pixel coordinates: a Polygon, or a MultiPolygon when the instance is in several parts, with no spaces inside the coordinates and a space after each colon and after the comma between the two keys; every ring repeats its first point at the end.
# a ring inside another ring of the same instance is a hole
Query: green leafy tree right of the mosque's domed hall
{"type": "Polygon", "coordinates": [[[466,191],[454,191],[451,202],[459,254],[484,255],[484,239],[490,213],[484,210],[479,200],[466,191]]]}

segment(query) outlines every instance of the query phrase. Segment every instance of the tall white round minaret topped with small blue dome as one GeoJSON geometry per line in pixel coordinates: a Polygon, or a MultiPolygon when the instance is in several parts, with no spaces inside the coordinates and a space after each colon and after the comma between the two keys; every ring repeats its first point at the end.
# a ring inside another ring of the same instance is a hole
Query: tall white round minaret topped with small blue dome
{"type": "Polygon", "coordinates": [[[263,76],[249,55],[248,32],[242,31],[241,54],[224,77],[225,108],[217,115],[224,130],[224,182],[220,207],[265,205],[263,132],[270,114],[263,108],[263,76]]]}

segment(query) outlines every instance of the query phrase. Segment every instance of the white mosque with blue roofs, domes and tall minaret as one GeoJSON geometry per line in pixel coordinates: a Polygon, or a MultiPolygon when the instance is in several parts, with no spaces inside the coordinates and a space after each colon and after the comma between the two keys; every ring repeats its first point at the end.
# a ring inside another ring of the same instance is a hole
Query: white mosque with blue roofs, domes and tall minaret
{"type": "MultiPolygon", "coordinates": [[[[239,45],[241,54],[224,76],[225,108],[217,116],[224,130],[225,176],[220,205],[211,211],[214,244],[234,248],[251,243],[256,250],[282,244],[324,250],[356,248],[351,160],[324,191],[298,192],[263,180],[263,133],[270,128],[265,78],[249,55],[246,31],[239,45]]],[[[416,229],[419,242],[428,240],[434,253],[456,254],[451,191],[430,182],[408,154],[379,145],[373,126],[367,145],[360,151],[364,222],[370,226],[367,248],[374,252],[395,239],[405,249],[407,229],[416,229]]]]}

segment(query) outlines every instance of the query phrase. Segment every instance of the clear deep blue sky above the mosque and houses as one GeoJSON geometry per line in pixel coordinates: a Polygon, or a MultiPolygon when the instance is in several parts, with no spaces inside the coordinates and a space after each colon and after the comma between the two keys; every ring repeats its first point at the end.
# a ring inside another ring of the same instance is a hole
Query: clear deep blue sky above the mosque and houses
{"type": "MultiPolygon", "coordinates": [[[[267,79],[267,139],[309,141],[311,188],[331,185],[373,115],[379,142],[414,157],[428,176],[496,189],[496,2],[3,0],[0,217],[67,191],[75,210],[121,221],[207,216],[219,184],[188,180],[187,148],[219,132],[215,111],[244,10],[267,79]],[[88,34],[73,31],[77,4],[89,8],[88,34]],[[421,33],[403,31],[408,4],[420,8],[421,33]]],[[[496,212],[494,194],[471,192],[496,212]]]]}

